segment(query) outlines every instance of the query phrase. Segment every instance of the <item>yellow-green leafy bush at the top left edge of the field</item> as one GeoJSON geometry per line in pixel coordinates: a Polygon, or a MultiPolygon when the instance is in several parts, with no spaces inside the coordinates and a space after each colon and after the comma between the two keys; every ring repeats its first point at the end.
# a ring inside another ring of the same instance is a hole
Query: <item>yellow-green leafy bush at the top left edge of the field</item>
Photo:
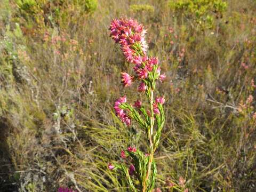
{"type": "Polygon", "coordinates": [[[42,29],[45,26],[67,28],[70,25],[76,25],[79,19],[93,13],[97,9],[98,1],[15,0],[15,5],[18,7],[17,14],[20,14],[16,19],[26,28],[42,29]]]}

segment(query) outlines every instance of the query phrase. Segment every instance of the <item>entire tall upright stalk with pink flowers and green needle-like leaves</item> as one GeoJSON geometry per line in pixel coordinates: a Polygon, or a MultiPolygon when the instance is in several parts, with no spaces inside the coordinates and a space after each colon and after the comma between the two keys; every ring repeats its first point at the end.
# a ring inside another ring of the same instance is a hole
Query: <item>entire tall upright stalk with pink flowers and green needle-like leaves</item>
{"type": "Polygon", "coordinates": [[[156,179],[156,164],[154,153],[159,144],[161,132],[165,122],[163,104],[164,97],[154,97],[157,81],[162,82],[165,74],[161,74],[158,59],[148,57],[147,43],[145,40],[146,30],[142,24],[133,19],[114,19],[110,24],[110,36],[121,46],[121,50],[134,69],[134,75],[121,73],[124,87],[138,82],[138,92],[146,94],[148,102],[142,103],[137,100],[134,105],[126,102],[124,95],[115,102],[116,115],[127,126],[131,121],[138,123],[140,128],[147,133],[149,147],[147,153],[143,153],[135,147],[128,147],[121,151],[121,157],[127,163],[131,159],[129,169],[126,163],[109,163],[110,170],[122,170],[126,175],[132,191],[148,192],[154,189],[156,179]],[[139,180],[140,185],[135,186],[132,175],[139,180]]]}

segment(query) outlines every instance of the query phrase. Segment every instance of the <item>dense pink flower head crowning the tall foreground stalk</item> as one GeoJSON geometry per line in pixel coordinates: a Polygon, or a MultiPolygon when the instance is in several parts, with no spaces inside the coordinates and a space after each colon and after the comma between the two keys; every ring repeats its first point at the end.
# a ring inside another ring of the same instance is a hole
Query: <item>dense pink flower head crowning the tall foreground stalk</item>
{"type": "MultiPolygon", "coordinates": [[[[148,73],[153,70],[154,65],[158,65],[158,59],[155,57],[148,58],[146,55],[147,44],[145,41],[146,30],[143,25],[132,19],[114,19],[110,24],[110,36],[116,43],[121,45],[123,54],[128,62],[133,63],[135,74],[139,80],[146,79],[148,73]]],[[[160,67],[157,68],[159,80],[162,82],[164,74],[160,74],[160,67]]],[[[124,86],[130,86],[134,77],[127,73],[122,73],[122,83],[124,86]]],[[[138,91],[147,89],[145,83],[141,83],[138,91]]]]}

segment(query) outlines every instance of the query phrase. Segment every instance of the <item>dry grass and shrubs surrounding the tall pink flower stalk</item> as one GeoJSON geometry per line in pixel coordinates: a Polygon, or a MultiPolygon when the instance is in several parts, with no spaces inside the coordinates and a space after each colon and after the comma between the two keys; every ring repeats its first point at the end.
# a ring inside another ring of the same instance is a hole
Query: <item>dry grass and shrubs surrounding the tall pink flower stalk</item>
{"type": "Polygon", "coordinates": [[[1,0],[0,191],[127,191],[121,161],[146,150],[116,98],[131,66],[111,19],[148,29],[167,76],[159,191],[256,190],[255,0],[1,0]]]}

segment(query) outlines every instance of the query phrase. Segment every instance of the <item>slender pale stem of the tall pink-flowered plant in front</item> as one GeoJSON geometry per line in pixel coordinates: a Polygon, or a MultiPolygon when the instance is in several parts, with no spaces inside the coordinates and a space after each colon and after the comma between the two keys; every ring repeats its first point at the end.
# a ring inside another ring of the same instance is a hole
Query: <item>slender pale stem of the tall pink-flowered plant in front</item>
{"type": "Polygon", "coordinates": [[[151,173],[151,164],[153,162],[153,158],[154,158],[154,145],[153,145],[153,128],[154,128],[154,107],[153,107],[153,103],[154,103],[154,90],[151,89],[150,91],[150,130],[149,130],[149,145],[150,145],[150,149],[149,149],[149,161],[148,161],[148,169],[147,169],[147,175],[146,175],[146,179],[143,182],[143,186],[142,186],[142,191],[146,192],[147,191],[147,184],[148,184],[148,179],[150,177],[150,173],[151,173]]]}

